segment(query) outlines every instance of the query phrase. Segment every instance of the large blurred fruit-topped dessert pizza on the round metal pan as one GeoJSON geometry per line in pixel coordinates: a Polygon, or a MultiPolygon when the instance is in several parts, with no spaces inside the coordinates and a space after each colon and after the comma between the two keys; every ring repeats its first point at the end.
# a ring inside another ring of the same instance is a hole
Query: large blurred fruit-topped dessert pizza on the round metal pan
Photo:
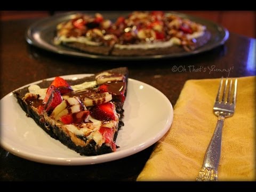
{"type": "Polygon", "coordinates": [[[163,11],[134,11],[116,21],[77,14],[59,23],[54,44],[101,55],[162,55],[193,51],[209,41],[205,26],[163,11]]]}

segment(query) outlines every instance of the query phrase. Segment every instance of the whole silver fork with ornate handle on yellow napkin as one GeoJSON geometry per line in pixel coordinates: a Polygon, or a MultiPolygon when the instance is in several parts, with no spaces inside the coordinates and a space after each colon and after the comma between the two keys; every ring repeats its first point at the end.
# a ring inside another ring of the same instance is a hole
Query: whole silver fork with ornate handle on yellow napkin
{"type": "Polygon", "coordinates": [[[199,172],[196,181],[217,181],[218,180],[218,166],[220,161],[221,152],[221,135],[222,127],[225,118],[233,116],[236,107],[236,91],[237,91],[237,79],[235,79],[234,89],[233,81],[230,80],[228,94],[226,94],[228,87],[228,79],[226,79],[225,86],[222,92],[223,77],[221,77],[220,86],[215,100],[213,111],[218,117],[218,122],[215,127],[212,139],[206,150],[204,156],[204,163],[201,171],[199,172]],[[231,98],[231,91],[233,91],[233,97],[231,98]]]}

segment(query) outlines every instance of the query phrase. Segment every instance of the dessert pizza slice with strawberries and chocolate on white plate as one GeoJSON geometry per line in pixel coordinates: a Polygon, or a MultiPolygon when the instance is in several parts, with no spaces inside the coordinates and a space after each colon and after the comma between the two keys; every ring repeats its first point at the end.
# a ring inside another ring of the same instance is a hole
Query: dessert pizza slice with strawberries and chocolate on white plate
{"type": "Polygon", "coordinates": [[[13,93],[27,116],[52,138],[81,155],[100,155],[118,147],[127,77],[122,67],[76,80],[55,77],[13,93]]]}

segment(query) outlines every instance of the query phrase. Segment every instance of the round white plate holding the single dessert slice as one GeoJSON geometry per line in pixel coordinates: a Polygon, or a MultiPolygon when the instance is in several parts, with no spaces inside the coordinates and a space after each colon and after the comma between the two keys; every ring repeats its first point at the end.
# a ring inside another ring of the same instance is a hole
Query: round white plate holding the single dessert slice
{"type": "MultiPolygon", "coordinates": [[[[89,74],[62,77],[76,79],[85,76],[89,74]]],[[[163,93],[148,84],[129,79],[124,102],[124,126],[116,140],[120,148],[114,153],[81,156],[51,138],[32,118],[26,117],[13,93],[1,99],[0,108],[1,146],[19,157],[55,165],[96,164],[138,153],[161,139],[173,121],[172,105],[163,93]]]]}

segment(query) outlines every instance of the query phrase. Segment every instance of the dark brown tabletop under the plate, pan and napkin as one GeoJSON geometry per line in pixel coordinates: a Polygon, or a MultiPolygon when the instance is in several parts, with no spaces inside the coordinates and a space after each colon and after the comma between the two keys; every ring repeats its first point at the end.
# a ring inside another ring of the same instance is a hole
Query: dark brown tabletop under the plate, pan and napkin
{"type": "MultiPolygon", "coordinates": [[[[255,75],[256,39],[232,33],[225,45],[185,58],[105,61],[58,55],[28,45],[25,41],[25,31],[35,21],[29,19],[1,22],[1,99],[18,87],[40,79],[97,73],[105,69],[127,66],[130,78],[156,87],[174,106],[188,79],[255,75]]],[[[134,181],[143,169],[152,149],[153,146],[140,153],[108,163],[58,166],[31,162],[0,148],[0,180],[134,181]]]]}

